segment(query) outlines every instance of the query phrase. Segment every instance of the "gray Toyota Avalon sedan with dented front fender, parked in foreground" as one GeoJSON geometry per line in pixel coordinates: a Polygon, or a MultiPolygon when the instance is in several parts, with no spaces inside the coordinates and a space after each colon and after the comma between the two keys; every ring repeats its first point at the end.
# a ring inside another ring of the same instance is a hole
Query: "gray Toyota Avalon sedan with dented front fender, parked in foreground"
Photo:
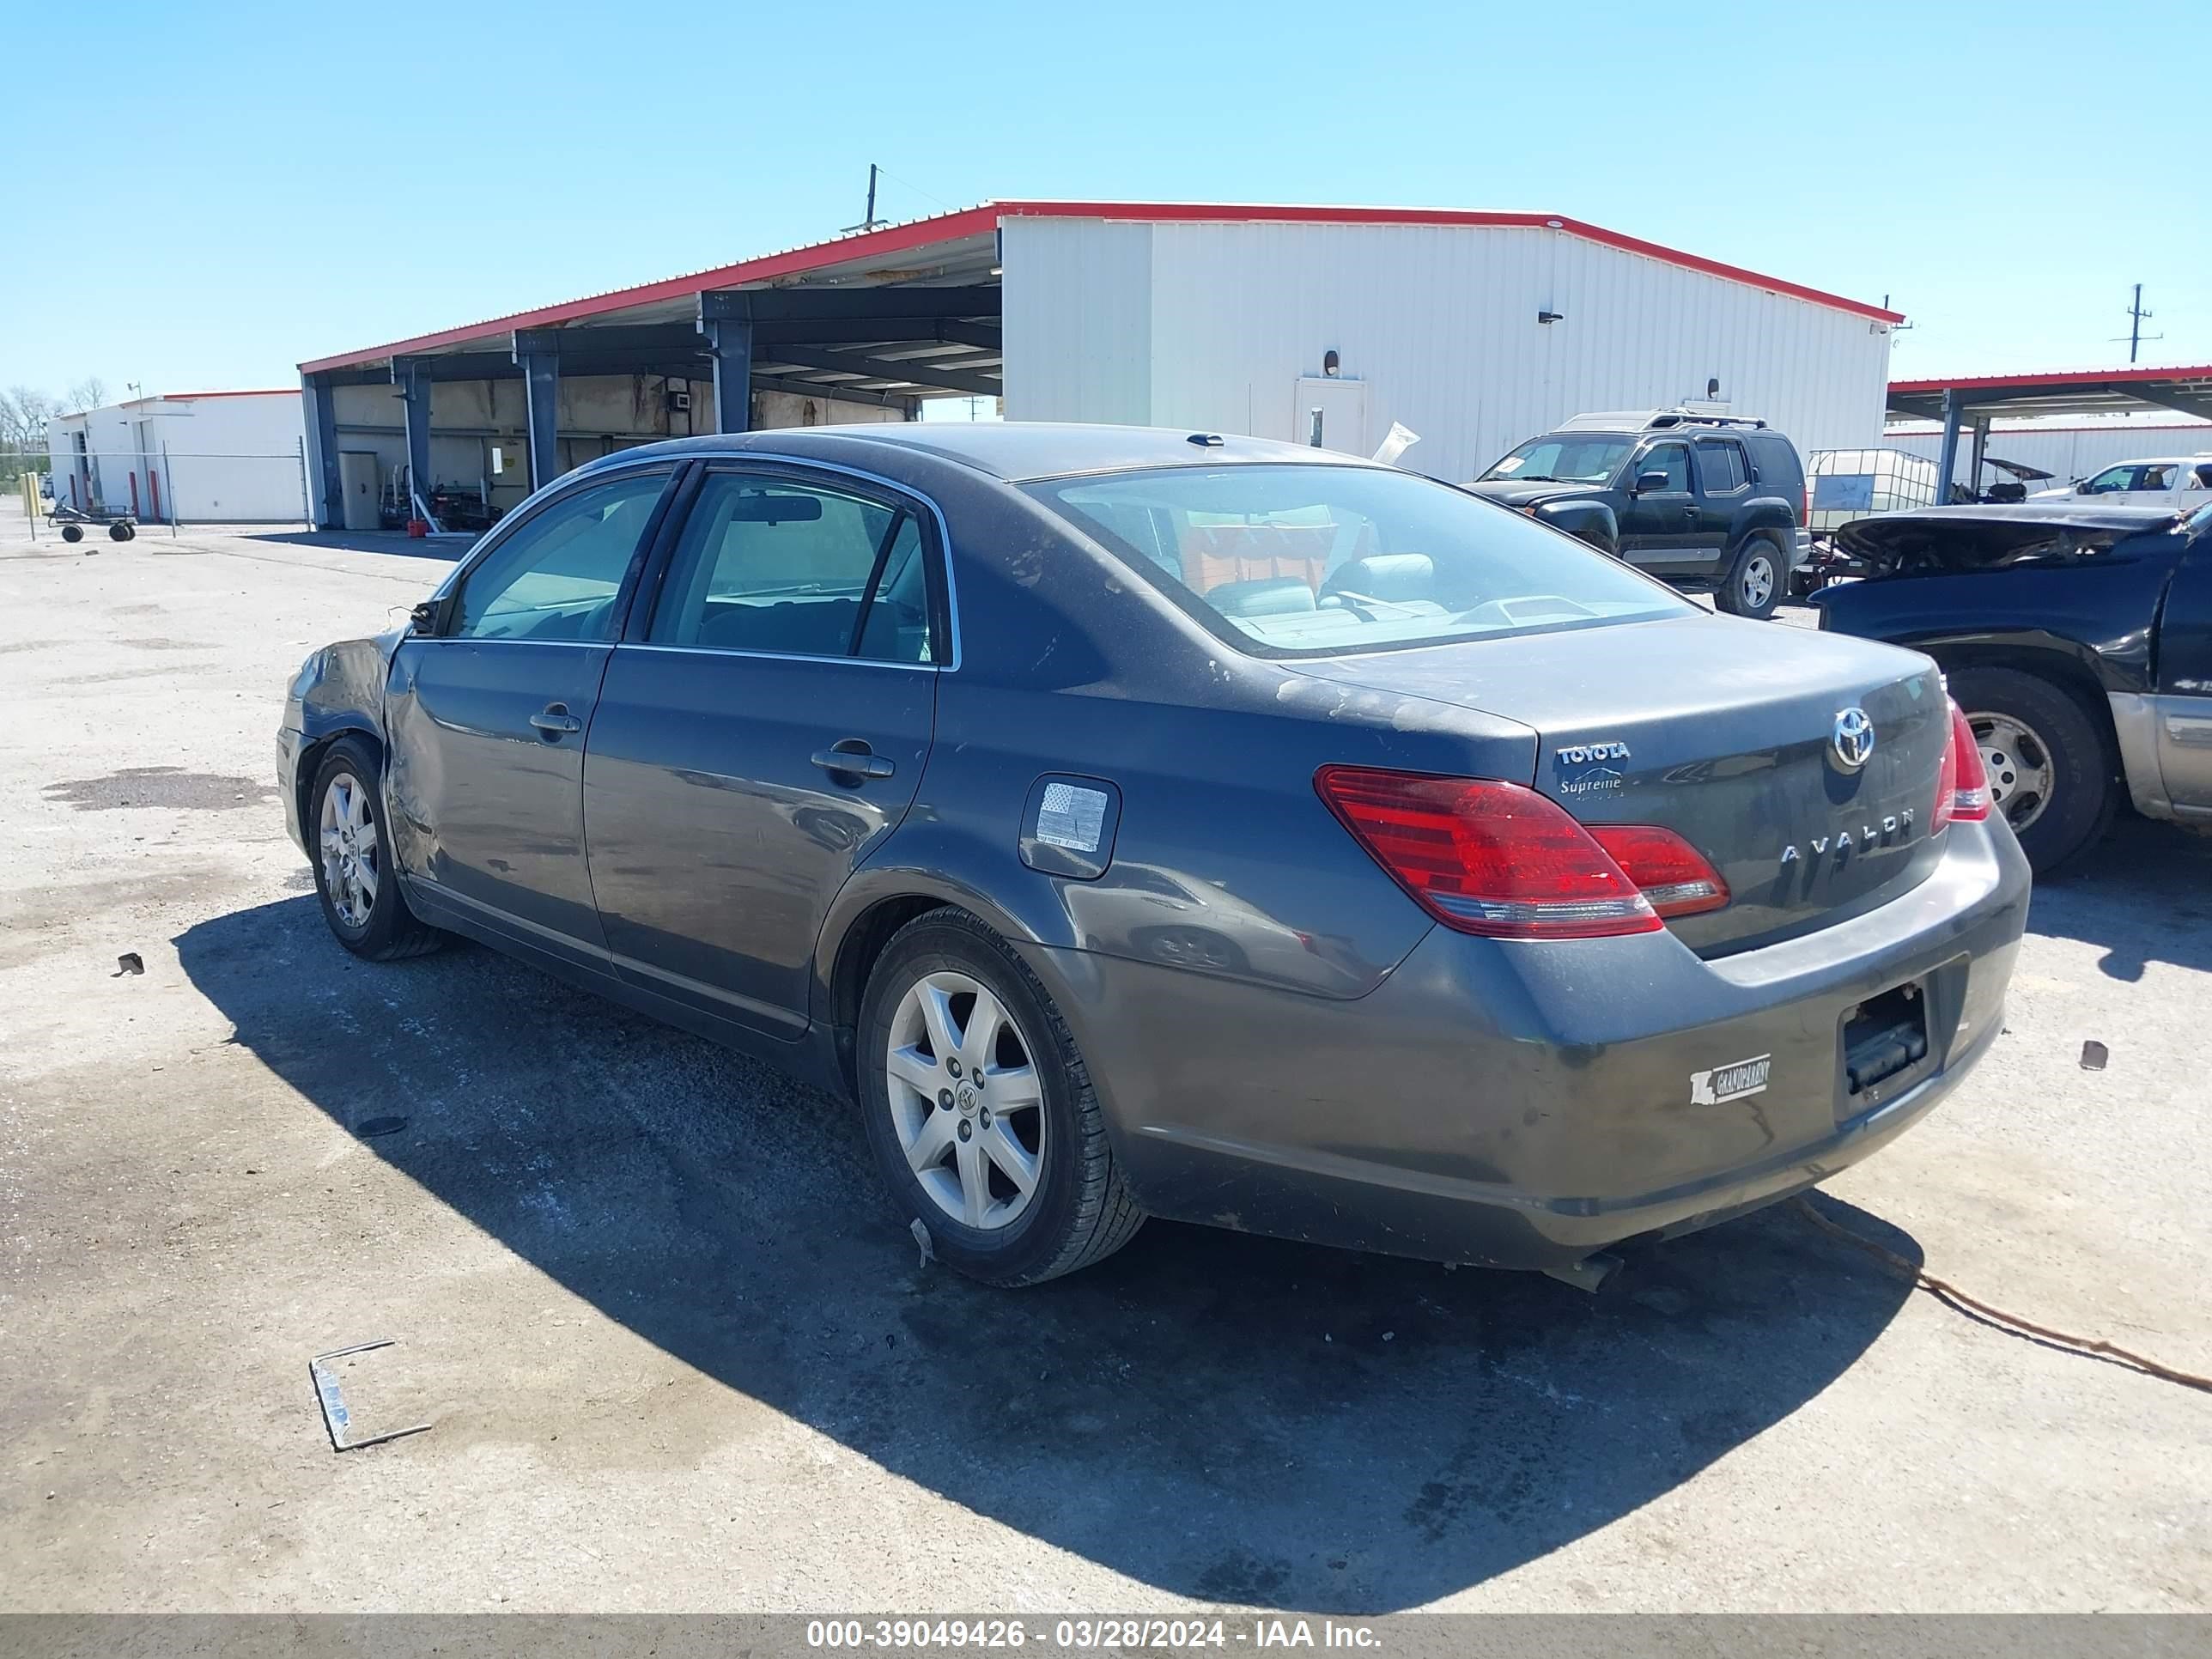
{"type": "Polygon", "coordinates": [[[2028,911],[1927,657],[1214,434],[608,456],[316,650],[279,757],[341,945],[849,1097],[1000,1285],[1148,1214],[1588,1279],[1927,1113],[2028,911]]]}

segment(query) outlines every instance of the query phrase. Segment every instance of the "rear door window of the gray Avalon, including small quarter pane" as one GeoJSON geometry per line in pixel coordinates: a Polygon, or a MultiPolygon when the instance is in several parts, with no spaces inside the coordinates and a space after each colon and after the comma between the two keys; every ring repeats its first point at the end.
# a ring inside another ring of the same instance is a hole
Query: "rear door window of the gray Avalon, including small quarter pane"
{"type": "Polygon", "coordinates": [[[646,635],[659,646],[931,661],[922,531],[900,507],[708,473],[646,635]]]}

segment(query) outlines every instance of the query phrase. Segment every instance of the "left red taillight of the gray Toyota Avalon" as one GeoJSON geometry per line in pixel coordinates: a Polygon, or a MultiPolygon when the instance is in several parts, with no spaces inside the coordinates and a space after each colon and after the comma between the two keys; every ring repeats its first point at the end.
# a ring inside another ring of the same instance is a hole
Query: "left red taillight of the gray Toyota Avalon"
{"type": "MultiPolygon", "coordinates": [[[[1444,927],[1486,938],[1599,938],[1663,927],[1652,900],[1588,830],[1520,783],[1325,765],[1314,787],[1345,830],[1444,927]]],[[[1666,834],[1666,832],[1650,832],[1666,834]]],[[[1683,872],[1683,843],[1652,869],[1683,872]]],[[[1725,887],[1719,887],[1725,900],[1725,887]]],[[[1692,900],[1697,909],[1708,905],[1692,900]]]]}

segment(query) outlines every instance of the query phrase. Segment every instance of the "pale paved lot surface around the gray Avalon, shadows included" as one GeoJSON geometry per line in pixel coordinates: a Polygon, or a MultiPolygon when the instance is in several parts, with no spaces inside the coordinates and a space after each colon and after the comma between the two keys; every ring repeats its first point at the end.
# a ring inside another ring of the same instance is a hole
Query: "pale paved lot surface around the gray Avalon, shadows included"
{"type": "MultiPolygon", "coordinates": [[[[1599,1296],[1159,1223],[989,1292],[838,1102],[482,949],[354,962],[281,686],[442,571],[354,540],[0,515],[0,1608],[2212,1608],[2212,1396],[1792,1210],[1599,1296]],[[307,1358],[385,1336],[358,1429],[434,1427],[334,1455],[307,1358]]],[[[2212,841],[2124,823],[1820,1203],[2212,1371],[2208,1024],[2212,841]]]]}

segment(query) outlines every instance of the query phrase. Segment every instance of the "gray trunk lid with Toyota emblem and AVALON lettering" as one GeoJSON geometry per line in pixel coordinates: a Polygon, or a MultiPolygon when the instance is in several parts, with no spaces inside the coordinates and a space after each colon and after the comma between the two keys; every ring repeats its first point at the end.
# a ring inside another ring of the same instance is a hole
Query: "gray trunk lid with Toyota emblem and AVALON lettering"
{"type": "Polygon", "coordinates": [[[1533,779],[1584,823],[1657,823],[1732,902],[1668,927],[1705,956],[1858,916],[1936,867],[1951,723],[1918,653],[1787,624],[1683,617],[1298,664],[1301,672],[1500,714],[1540,732],[1533,779]],[[1871,754],[1851,770],[1838,719],[1871,754]]]}

